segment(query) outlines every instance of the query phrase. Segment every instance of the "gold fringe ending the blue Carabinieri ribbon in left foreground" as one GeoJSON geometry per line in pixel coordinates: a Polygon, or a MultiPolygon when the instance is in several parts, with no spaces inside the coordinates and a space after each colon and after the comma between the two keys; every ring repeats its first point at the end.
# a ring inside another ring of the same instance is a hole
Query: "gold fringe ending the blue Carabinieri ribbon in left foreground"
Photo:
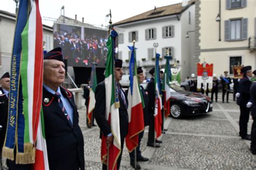
{"type": "Polygon", "coordinates": [[[24,144],[24,153],[16,153],[16,164],[34,164],[36,148],[32,144],[24,144]]]}

